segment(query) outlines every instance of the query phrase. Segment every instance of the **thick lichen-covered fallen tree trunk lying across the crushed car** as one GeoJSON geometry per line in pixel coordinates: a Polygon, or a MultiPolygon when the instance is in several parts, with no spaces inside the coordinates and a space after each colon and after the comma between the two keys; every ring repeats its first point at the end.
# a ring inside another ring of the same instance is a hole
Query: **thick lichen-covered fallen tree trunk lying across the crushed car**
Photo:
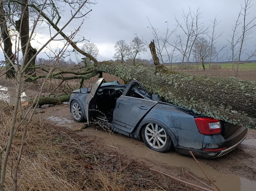
{"type": "Polygon", "coordinates": [[[166,102],[213,118],[256,129],[256,82],[197,76],[152,67],[99,62],[97,70],[124,81],[135,78],[166,102]]]}

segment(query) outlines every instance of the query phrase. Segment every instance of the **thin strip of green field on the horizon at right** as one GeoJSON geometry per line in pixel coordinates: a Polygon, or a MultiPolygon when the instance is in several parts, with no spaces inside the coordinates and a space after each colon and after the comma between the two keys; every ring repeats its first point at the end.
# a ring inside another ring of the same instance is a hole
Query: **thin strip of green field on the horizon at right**
{"type": "MultiPolygon", "coordinates": [[[[237,64],[235,64],[236,69],[237,64]]],[[[166,67],[170,68],[170,65],[167,65],[166,67]]],[[[204,64],[204,67],[206,70],[209,70],[209,64],[204,64]]],[[[172,64],[173,70],[181,70],[181,64],[172,64]]],[[[192,69],[192,70],[203,70],[202,64],[190,64],[189,66],[187,64],[184,64],[183,66],[184,70],[192,69]]],[[[232,70],[232,63],[212,63],[211,64],[211,70],[232,70]]],[[[239,64],[239,69],[241,71],[256,71],[256,62],[254,63],[245,63],[245,64],[239,64]]]]}

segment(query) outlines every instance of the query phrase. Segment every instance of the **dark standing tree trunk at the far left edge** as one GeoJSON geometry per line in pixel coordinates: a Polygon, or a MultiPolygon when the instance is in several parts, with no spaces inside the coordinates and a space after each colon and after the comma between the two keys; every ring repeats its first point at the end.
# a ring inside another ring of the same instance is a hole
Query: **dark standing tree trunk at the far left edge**
{"type": "Polygon", "coordinates": [[[5,77],[14,78],[15,70],[11,62],[15,63],[15,56],[12,53],[12,43],[9,35],[9,31],[6,24],[5,11],[3,9],[3,2],[0,1],[0,29],[1,29],[1,38],[4,42],[4,51],[5,51],[5,77]]]}

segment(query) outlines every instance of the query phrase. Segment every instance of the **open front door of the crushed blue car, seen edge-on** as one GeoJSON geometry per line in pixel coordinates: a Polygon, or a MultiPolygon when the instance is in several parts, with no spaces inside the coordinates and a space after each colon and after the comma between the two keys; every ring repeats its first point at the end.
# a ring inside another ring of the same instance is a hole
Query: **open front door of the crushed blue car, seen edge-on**
{"type": "Polygon", "coordinates": [[[91,87],[91,91],[88,93],[86,96],[86,118],[87,118],[87,123],[91,122],[91,117],[93,117],[93,113],[95,113],[96,110],[96,95],[97,92],[103,83],[104,78],[99,78],[91,87]]]}

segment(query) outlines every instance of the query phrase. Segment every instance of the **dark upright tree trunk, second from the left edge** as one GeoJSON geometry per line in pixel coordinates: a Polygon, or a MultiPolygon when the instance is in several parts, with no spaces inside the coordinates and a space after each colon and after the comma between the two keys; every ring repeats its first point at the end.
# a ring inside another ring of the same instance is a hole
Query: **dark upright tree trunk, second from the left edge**
{"type": "MultiPolygon", "coordinates": [[[[34,49],[29,42],[29,9],[27,6],[28,0],[22,0],[25,5],[21,6],[21,17],[18,22],[16,22],[16,27],[20,32],[20,44],[23,53],[23,58],[25,57],[25,65],[28,64],[29,60],[36,54],[37,50],[34,49]],[[25,50],[28,44],[27,54],[25,55],[25,50]]],[[[36,62],[36,58],[30,61],[30,66],[34,67],[36,62]]],[[[35,77],[35,69],[30,69],[27,67],[25,73],[29,76],[35,77]]],[[[27,81],[31,81],[27,78],[27,81]]]]}

